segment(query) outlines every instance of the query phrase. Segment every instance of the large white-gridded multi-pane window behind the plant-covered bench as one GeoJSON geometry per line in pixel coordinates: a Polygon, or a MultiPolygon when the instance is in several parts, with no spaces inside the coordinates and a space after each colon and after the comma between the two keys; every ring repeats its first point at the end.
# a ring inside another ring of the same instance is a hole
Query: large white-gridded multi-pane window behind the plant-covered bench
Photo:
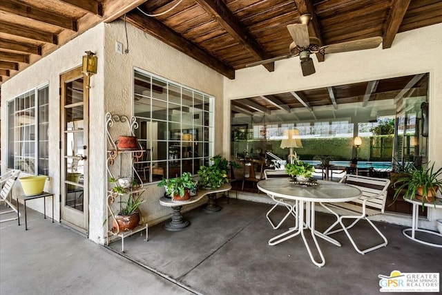
{"type": "Polygon", "coordinates": [[[142,70],[134,73],[135,130],[144,149],[135,170],[143,182],[195,174],[213,157],[213,100],[142,70]]]}

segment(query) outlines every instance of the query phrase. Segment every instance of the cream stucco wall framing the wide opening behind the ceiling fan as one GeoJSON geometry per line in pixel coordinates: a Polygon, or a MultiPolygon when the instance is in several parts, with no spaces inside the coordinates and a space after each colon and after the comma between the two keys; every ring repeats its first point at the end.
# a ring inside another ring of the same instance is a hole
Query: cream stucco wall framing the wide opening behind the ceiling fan
{"type": "MultiPolygon", "coordinates": [[[[429,155],[438,168],[442,166],[442,23],[396,35],[392,48],[382,46],[371,50],[327,55],[325,61],[313,57],[316,73],[302,77],[298,57],[276,61],[275,71],[269,73],[263,66],[236,71],[236,79],[224,78],[224,96],[237,99],[302,91],[356,82],[430,73],[429,85],[429,155]],[[431,48],[431,49],[430,49],[431,48]],[[429,50],[430,49],[430,50],[429,50]]],[[[229,112],[229,110],[226,110],[229,112]]],[[[423,227],[436,229],[436,218],[442,210],[429,210],[430,221],[421,220],[423,227]]],[[[411,219],[382,216],[399,224],[410,225],[411,219]]]]}

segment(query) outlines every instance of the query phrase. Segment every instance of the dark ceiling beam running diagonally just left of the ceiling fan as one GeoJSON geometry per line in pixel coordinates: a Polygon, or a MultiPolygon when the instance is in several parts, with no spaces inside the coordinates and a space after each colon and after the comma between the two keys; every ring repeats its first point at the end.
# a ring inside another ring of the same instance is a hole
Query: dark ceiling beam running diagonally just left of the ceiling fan
{"type": "MultiPolygon", "coordinates": [[[[256,58],[257,61],[269,59],[271,55],[265,52],[264,48],[256,41],[247,28],[244,28],[242,23],[238,20],[235,15],[227,8],[221,0],[195,0],[202,8],[204,8],[210,15],[212,15],[220,26],[226,30],[233,39],[235,39],[239,44],[244,46],[244,48],[256,58]]],[[[275,63],[270,62],[268,64],[263,64],[269,72],[275,70],[275,63]]]]}

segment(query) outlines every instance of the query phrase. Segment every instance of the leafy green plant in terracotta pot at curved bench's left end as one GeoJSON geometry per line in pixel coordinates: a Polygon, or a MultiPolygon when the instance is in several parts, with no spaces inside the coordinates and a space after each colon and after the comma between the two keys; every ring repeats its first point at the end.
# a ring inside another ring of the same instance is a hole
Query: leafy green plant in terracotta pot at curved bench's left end
{"type": "Polygon", "coordinates": [[[170,195],[172,200],[183,201],[191,198],[190,192],[195,190],[197,184],[191,173],[184,172],[181,177],[162,178],[157,185],[158,187],[164,187],[166,195],[170,195]]]}

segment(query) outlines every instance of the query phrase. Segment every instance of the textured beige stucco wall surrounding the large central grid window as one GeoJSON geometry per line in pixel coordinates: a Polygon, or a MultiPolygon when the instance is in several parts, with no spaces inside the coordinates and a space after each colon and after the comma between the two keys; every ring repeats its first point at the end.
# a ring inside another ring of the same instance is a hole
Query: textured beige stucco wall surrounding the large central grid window
{"type": "MultiPolygon", "coordinates": [[[[222,115],[225,108],[223,104],[222,75],[131,25],[127,25],[129,53],[117,53],[115,51],[116,41],[124,44],[124,50],[127,46],[123,21],[106,24],[105,32],[104,112],[128,116],[133,114],[133,69],[141,68],[155,75],[213,95],[216,109],[214,140],[215,143],[222,142],[222,132],[224,130],[222,115]]],[[[222,151],[221,145],[215,144],[215,154],[222,153],[222,151]]],[[[102,171],[102,175],[105,175],[104,173],[106,171],[102,171]]],[[[105,184],[105,179],[100,178],[99,183],[105,184]]],[[[162,207],[158,202],[164,189],[157,187],[156,184],[146,185],[145,187],[146,191],[143,196],[146,202],[140,208],[144,221],[151,225],[169,218],[172,213],[171,208],[162,207]]],[[[106,209],[100,207],[100,205],[105,204],[103,200],[96,207],[93,207],[91,202],[90,207],[90,238],[97,242],[104,242],[100,238],[104,237],[102,220],[106,209]]],[[[200,204],[195,204],[192,207],[186,206],[183,211],[200,204]]]]}

